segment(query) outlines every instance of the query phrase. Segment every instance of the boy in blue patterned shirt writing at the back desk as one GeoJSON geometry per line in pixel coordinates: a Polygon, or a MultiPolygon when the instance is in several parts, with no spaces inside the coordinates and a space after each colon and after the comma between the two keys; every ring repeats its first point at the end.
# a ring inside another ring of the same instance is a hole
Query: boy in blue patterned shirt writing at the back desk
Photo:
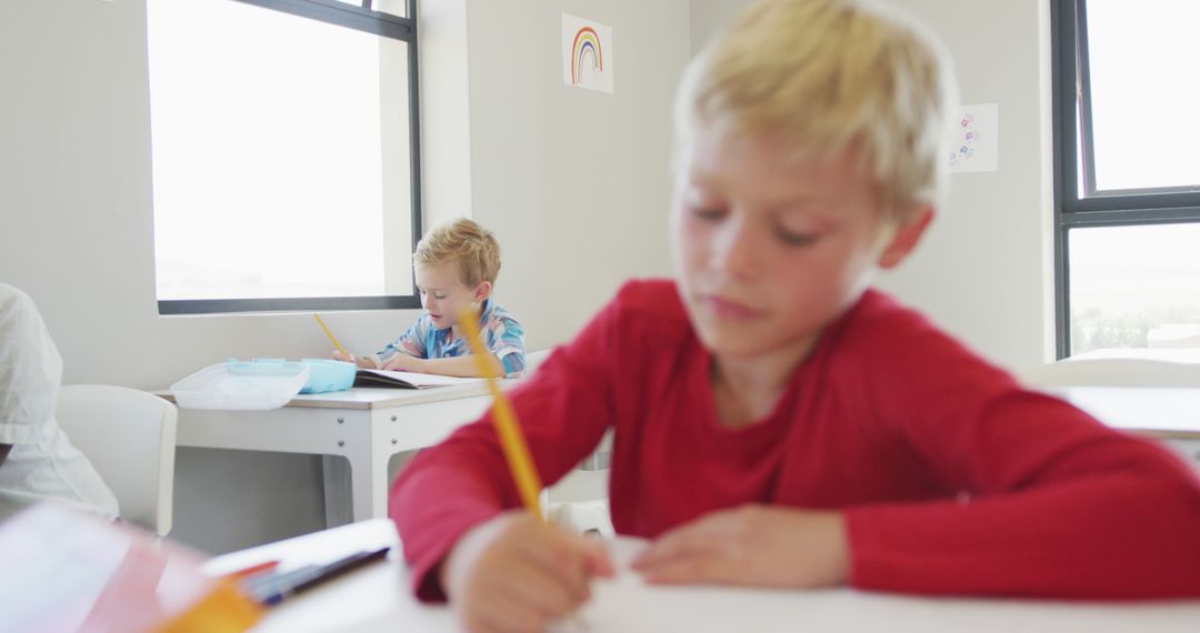
{"type": "Polygon", "coordinates": [[[493,370],[520,376],[526,364],[524,330],[491,299],[500,272],[500,246],[491,231],[458,218],[422,237],[413,263],[425,314],[378,354],[334,352],[334,357],[367,369],[476,376],[479,369],[457,322],[462,309],[469,308],[479,315],[493,370]]]}

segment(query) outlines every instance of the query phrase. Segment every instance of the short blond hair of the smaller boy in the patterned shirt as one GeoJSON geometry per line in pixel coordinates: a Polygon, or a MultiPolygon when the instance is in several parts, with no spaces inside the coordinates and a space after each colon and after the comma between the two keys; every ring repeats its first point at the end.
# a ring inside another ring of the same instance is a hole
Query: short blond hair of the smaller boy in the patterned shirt
{"type": "Polygon", "coordinates": [[[496,283],[500,273],[500,245],[492,231],[474,221],[458,218],[431,230],[420,242],[413,261],[437,266],[458,263],[458,276],[468,288],[496,283]]]}

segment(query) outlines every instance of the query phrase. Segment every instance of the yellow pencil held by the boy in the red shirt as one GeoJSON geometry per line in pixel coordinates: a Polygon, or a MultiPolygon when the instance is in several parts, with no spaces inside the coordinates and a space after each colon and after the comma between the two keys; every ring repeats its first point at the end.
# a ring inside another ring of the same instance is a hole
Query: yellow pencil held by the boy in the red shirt
{"type": "Polygon", "coordinates": [[[475,356],[480,373],[487,376],[487,388],[492,392],[493,400],[492,421],[496,423],[496,434],[500,436],[500,448],[509,463],[509,470],[512,471],[517,493],[521,494],[526,510],[532,512],[534,517],[545,520],[541,514],[541,504],[538,501],[538,495],[541,494],[541,478],[538,477],[538,469],[533,465],[529,445],[526,444],[524,435],[521,433],[517,416],[512,411],[512,403],[496,384],[496,373],[487,363],[488,352],[484,348],[484,339],[480,338],[476,319],[479,315],[467,308],[458,314],[458,325],[467,332],[467,343],[475,356]]]}

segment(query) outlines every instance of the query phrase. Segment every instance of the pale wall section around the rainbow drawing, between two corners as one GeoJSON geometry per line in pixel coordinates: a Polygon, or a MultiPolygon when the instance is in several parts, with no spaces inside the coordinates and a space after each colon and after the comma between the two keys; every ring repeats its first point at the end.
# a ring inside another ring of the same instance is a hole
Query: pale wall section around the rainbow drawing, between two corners
{"type": "Polygon", "coordinates": [[[622,281],[670,272],[670,104],[690,52],[688,2],[468,6],[475,219],[504,251],[500,301],[542,348],[622,281]],[[613,28],[612,95],[564,86],[563,13],[613,28]]]}

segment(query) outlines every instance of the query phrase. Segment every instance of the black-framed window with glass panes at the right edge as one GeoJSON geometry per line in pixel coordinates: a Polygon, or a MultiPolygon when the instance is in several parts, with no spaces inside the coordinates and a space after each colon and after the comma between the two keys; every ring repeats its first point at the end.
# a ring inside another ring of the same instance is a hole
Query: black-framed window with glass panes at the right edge
{"type": "Polygon", "coordinates": [[[1200,346],[1200,2],[1051,7],[1058,356],[1200,346]]]}

